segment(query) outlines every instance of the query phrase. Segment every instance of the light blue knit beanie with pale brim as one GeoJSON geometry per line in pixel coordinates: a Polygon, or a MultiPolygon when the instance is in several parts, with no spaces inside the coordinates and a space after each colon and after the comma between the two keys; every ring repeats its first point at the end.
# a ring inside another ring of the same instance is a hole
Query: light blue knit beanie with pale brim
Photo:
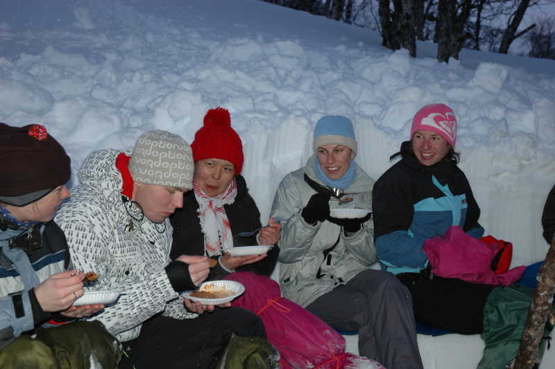
{"type": "Polygon", "coordinates": [[[357,153],[355,130],[347,117],[342,115],[326,115],[318,119],[314,128],[314,155],[318,155],[318,147],[327,144],[343,145],[357,153]]]}

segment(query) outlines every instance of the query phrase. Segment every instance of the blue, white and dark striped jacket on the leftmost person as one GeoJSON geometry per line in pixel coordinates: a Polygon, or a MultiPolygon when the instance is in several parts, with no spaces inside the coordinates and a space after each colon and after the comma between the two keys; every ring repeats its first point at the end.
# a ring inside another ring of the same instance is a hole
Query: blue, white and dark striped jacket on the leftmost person
{"type": "Polygon", "coordinates": [[[35,287],[70,264],[65,235],[53,221],[33,228],[0,218],[0,349],[33,333],[51,314],[42,311],[35,287]]]}

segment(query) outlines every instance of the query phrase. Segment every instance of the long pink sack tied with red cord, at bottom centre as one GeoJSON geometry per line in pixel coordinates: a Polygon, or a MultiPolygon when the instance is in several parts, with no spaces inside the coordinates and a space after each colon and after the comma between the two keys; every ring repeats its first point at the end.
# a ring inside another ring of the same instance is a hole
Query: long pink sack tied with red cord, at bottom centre
{"type": "Polygon", "coordinates": [[[232,305],[255,312],[266,336],[281,354],[282,368],[384,368],[376,361],[345,353],[345,338],[300,305],[281,298],[278,282],[253,272],[225,277],[245,286],[232,305]]]}

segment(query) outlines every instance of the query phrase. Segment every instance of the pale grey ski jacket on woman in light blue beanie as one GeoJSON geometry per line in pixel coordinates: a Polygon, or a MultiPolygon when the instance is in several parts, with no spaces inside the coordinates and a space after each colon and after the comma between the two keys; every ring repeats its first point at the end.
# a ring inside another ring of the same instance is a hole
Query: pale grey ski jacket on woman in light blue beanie
{"type": "MultiPolygon", "coordinates": [[[[370,209],[374,180],[355,162],[356,178],[345,189],[354,200],[340,205],[330,200],[330,208],[359,206],[370,209]]],[[[366,221],[355,234],[345,235],[340,225],[330,221],[309,225],[300,213],[311,196],[316,194],[305,182],[305,173],[321,186],[316,176],[316,157],[309,158],[305,168],[285,176],[273,200],[271,216],[282,221],[280,240],[280,284],[284,298],[307,307],[321,295],[339,284],[346,284],[355,275],[376,261],[374,223],[366,221]]]]}

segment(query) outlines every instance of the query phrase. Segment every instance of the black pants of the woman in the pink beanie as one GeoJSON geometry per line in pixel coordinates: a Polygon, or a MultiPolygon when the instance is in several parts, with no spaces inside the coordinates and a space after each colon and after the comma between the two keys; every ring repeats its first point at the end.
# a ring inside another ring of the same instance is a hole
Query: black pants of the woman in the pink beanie
{"type": "Polygon", "coordinates": [[[484,305],[496,286],[420,273],[401,273],[399,280],[412,295],[414,319],[459,334],[484,330],[484,305]]]}

